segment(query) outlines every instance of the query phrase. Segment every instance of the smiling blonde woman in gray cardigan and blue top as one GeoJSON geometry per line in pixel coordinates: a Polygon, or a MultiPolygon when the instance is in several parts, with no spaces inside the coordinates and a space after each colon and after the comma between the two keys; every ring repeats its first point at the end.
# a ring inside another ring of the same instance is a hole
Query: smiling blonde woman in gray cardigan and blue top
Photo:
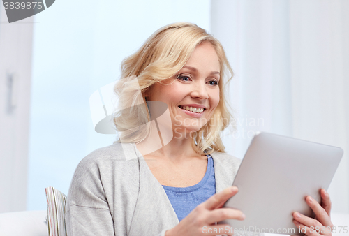
{"type": "MultiPolygon", "coordinates": [[[[223,89],[232,74],[221,44],[195,24],[170,24],[121,69],[125,79],[115,91],[124,109],[114,117],[120,140],[77,166],[68,235],[232,235],[216,225],[245,217],[221,208],[238,191],[231,185],[239,167],[219,138],[231,118],[223,89]]],[[[293,215],[307,235],[314,235],[311,226],[332,226],[329,196],[321,196],[322,206],[306,198],[317,220],[293,215]]]]}

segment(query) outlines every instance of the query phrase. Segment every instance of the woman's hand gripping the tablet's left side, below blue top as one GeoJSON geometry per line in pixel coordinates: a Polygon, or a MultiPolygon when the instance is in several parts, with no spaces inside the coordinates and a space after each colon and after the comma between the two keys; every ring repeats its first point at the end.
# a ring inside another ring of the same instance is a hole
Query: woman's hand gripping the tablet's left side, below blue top
{"type": "Polygon", "coordinates": [[[235,196],[237,191],[237,186],[231,186],[214,194],[207,201],[195,207],[177,226],[167,230],[165,236],[233,235],[234,232],[230,225],[216,225],[215,223],[225,219],[236,219],[239,221],[245,219],[245,215],[237,209],[221,208],[229,198],[235,196]]]}

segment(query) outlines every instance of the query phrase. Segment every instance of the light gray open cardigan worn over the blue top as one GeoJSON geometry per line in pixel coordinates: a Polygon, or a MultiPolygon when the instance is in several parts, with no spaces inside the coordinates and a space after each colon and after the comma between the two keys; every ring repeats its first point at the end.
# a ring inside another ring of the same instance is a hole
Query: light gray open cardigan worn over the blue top
{"type": "MultiPolygon", "coordinates": [[[[241,160],[222,152],[211,156],[218,193],[232,185],[241,160]]],[[[135,144],[96,149],[77,165],[67,198],[68,236],[163,236],[178,223],[135,144]]]]}

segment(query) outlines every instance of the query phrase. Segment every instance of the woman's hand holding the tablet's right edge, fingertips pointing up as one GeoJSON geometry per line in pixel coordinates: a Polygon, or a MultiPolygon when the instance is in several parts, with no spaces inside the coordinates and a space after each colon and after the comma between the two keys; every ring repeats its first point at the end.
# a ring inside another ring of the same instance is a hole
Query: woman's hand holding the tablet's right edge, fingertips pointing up
{"type": "Polygon", "coordinates": [[[309,236],[318,235],[332,235],[333,224],[331,222],[331,200],[329,199],[329,194],[325,189],[320,189],[320,195],[322,198],[321,205],[311,198],[311,196],[306,196],[306,204],[313,209],[315,213],[315,219],[300,214],[299,212],[293,213],[293,223],[295,226],[309,236]]]}

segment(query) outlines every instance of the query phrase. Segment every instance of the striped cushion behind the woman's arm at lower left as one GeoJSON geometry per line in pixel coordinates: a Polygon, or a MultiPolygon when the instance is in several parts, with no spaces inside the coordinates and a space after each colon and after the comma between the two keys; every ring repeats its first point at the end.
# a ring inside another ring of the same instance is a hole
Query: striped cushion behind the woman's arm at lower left
{"type": "Polygon", "coordinates": [[[47,223],[48,235],[66,236],[66,196],[54,187],[47,187],[47,223]]]}

